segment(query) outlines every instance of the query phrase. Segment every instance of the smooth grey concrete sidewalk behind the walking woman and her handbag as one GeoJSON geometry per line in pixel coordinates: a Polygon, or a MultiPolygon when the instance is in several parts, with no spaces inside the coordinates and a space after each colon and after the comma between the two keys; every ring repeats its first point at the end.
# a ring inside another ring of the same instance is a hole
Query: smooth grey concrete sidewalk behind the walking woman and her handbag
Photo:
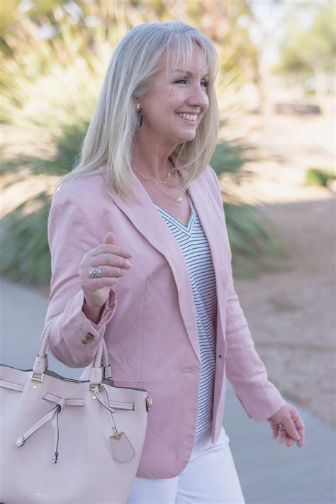
{"type": "MultiPolygon", "coordinates": [[[[4,280],[0,293],[0,362],[31,369],[47,298],[4,280]]],[[[79,377],[80,369],[69,369],[51,355],[48,358],[53,371],[79,377]]],[[[271,439],[269,423],[250,420],[228,387],[223,425],[247,504],[335,503],[335,431],[301,406],[296,404],[296,408],[306,424],[306,444],[301,449],[271,439]]]]}

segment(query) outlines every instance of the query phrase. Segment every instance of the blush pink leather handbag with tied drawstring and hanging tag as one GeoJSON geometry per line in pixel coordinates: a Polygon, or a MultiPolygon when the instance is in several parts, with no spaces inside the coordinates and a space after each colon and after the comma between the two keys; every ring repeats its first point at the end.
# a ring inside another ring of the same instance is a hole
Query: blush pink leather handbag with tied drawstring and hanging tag
{"type": "Polygon", "coordinates": [[[49,371],[57,317],[43,330],[33,369],[0,365],[0,501],[124,504],[152,400],[143,388],[113,386],[104,340],[90,381],[49,371]]]}

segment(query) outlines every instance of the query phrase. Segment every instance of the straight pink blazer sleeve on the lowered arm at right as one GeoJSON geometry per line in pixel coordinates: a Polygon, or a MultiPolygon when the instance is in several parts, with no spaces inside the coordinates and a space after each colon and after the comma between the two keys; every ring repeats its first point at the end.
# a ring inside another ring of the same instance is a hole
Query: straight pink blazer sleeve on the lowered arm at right
{"type": "MultiPolygon", "coordinates": [[[[212,168],[211,172],[219,189],[220,204],[223,207],[218,177],[212,168]]],[[[286,401],[276,386],[269,381],[267,369],[254,348],[250,329],[235,292],[231,259],[230,250],[225,325],[226,375],[247,415],[254,420],[262,421],[279,411],[286,401]]]]}

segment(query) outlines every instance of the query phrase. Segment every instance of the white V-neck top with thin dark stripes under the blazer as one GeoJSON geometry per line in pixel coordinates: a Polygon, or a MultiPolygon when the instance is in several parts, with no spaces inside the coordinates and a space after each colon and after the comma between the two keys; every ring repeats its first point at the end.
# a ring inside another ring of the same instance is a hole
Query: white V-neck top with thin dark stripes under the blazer
{"type": "Polygon", "coordinates": [[[188,194],[191,215],[185,226],[156,203],[155,206],[181,249],[189,271],[198,329],[201,356],[201,379],[198,391],[196,435],[212,422],[213,385],[215,379],[215,325],[217,298],[215,271],[208,240],[188,194]]]}

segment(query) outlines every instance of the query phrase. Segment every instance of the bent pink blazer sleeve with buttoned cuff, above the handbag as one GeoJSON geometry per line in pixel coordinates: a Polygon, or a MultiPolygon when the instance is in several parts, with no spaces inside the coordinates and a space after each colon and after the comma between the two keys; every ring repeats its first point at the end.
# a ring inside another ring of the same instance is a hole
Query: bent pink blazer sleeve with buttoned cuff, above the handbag
{"type": "Polygon", "coordinates": [[[55,191],[47,234],[52,276],[45,323],[60,314],[52,323],[49,350],[69,367],[88,366],[116,310],[116,293],[111,289],[99,323],[86,318],[82,311],[84,293],[79,282],[79,264],[84,254],[102,241],[94,218],[71,186],[55,191]]]}

